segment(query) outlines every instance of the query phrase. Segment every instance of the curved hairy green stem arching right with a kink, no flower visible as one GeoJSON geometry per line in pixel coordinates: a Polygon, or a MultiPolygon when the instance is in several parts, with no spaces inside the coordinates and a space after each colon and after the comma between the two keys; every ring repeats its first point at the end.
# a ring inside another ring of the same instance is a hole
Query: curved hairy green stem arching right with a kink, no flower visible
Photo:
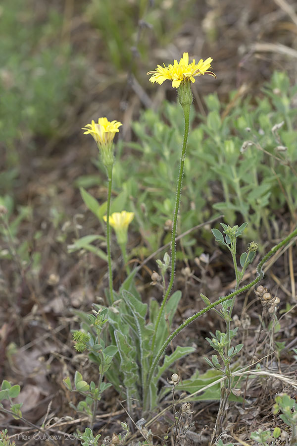
{"type": "Polygon", "coordinates": [[[288,237],[284,238],[284,240],[282,240],[278,245],[274,246],[262,258],[262,260],[257,265],[256,278],[254,280],[252,280],[250,283],[247,283],[247,285],[239,288],[238,290],[233,291],[232,293],[228,294],[227,296],[221,297],[220,299],[216,300],[212,304],[207,305],[207,307],[203,308],[202,310],[198,311],[198,313],[196,313],[193,316],[191,316],[190,318],[186,319],[185,322],[183,322],[176,330],[174,330],[174,332],[171,333],[171,335],[169,335],[167,337],[167,339],[163,342],[160,350],[155,355],[154,360],[149,368],[148,379],[147,379],[147,383],[146,383],[146,387],[145,387],[145,398],[144,398],[145,401],[148,398],[149,386],[150,386],[150,382],[151,382],[153,373],[155,371],[155,368],[157,367],[161,356],[163,355],[164,351],[166,350],[166,348],[168,347],[168,345],[170,344],[172,339],[176,335],[178,335],[185,327],[187,327],[189,324],[191,324],[193,321],[195,321],[197,318],[199,318],[203,314],[207,313],[207,311],[211,310],[212,308],[215,308],[217,305],[221,304],[222,302],[225,302],[226,300],[231,299],[232,297],[237,296],[238,294],[240,294],[244,291],[247,291],[253,285],[256,285],[256,283],[258,283],[260,280],[262,280],[264,277],[264,271],[262,269],[263,265],[267,262],[267,260],[270,259],[271,256],[273,256],[273,254],[275,254],[282,246],[286,245],[295,236],[297,236],[297,228],[293,232],[291,232],[291,234],[289,234],[288,237]]]}

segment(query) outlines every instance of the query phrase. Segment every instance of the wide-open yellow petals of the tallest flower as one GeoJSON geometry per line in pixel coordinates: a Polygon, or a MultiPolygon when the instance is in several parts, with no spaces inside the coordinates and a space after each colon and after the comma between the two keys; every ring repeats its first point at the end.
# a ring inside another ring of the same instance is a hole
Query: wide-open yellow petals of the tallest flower
{"type": "Polygon", "coordinates": [[[212,71],[208,71],[211,68],[212,57],[208,57],[206,60],[200,59],[198,63],[193,59],[189,63],[189,53],[184,53],[181,60],[178,62],[174,60],[173,65],[170,63],[168,66],[158,65],[155,71],[148,71],[147,74],[152,74],[149,81],[161,85],[166,79],[172,81],[172,87],[178,88],[181,82],[189,79],[191,82],[195,82],[195,77],[209,74],[216,77],[212,71]]]}

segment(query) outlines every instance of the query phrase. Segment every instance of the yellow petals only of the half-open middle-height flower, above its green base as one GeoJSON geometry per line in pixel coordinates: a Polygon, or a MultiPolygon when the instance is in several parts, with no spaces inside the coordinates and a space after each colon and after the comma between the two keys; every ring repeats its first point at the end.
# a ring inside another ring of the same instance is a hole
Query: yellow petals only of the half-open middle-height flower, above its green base
{"type": "Polygon", "coordinates": [[[123,125],[119,121],[109,122],[106,117],[98,119],[98,123],[92,120],[91,124],[83,127],[84,135],[92,135],[97,142],[98,147],[112,143],[115,134],[119,131],[119,127],[123,125]]]}

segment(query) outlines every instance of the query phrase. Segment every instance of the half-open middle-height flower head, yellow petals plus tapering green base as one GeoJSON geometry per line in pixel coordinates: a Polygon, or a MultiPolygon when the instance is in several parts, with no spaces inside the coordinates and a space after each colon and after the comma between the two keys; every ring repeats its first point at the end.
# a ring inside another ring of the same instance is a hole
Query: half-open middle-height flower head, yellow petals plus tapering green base
{"type": "Polygon", "coordinates": [[[119,127],[122,125],[119,121],[109,122],[106,117],[99,118],[98,123],[92,120],[91,124],[83,127],[84,135],[92,135],[102,155],[104,166],[113,165],[112,141],[119,127]]]}

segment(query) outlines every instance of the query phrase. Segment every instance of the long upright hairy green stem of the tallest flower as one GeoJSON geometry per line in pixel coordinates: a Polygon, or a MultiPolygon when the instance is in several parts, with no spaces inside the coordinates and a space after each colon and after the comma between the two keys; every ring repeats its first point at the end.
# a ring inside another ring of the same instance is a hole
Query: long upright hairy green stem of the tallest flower
{"type": "MultiPolygon", "coordinates": [[[[178,174],[178,180],[177,180],[177,186],[176,186],[176,199],[175,199],[175,207],[174,207],[174,214],[173,214],[173,227],[172,227],[172,233],[171,233],[171,272],[170,272],[170,281],[167,287],[166,292],[164,293],[163,301],[161,304],[161,307],[159,309],[158,318],[156,321],[155,329],[154,329],[154,335],[151,342],[151,352],[153,353],[153,349],[155,346],[155,340],[156,335],[161,319],[161,315],[163,313],[163,309],[165,306],[165,303],[168,299],[168,296],[170,294],[171,288],[173,286],[174,282],[174,274],[175,274],[175,260],[176,260],[176,228],[177,228],[177,218],[178,218],[178,211],[179,211],[179,205],[181,200],[181,192],[182,192],[182,180],[183,180],[183,173],[184,173],[184,164],[185,164],[185,158],[186,158],[186,149],[187,149],[187,141],[188,141],[188,135],[189,135],[189,127],[190,127],[190,108],[191,108],[191,102],[188,104],[183,104],[182,108],[184,111],[184,118],[185,118],[185,132],[184,132],[184,141],[183,141],[183,148],[182,148],[182,154],[181,154],[181,160],[180,160],[180,167],[179,167],[179,174],[178,174]]],[[[152,355],[153,356],[153,355],[152,355]]],[[[151,356],[151,358],[152,358],[151,356]]]]}

